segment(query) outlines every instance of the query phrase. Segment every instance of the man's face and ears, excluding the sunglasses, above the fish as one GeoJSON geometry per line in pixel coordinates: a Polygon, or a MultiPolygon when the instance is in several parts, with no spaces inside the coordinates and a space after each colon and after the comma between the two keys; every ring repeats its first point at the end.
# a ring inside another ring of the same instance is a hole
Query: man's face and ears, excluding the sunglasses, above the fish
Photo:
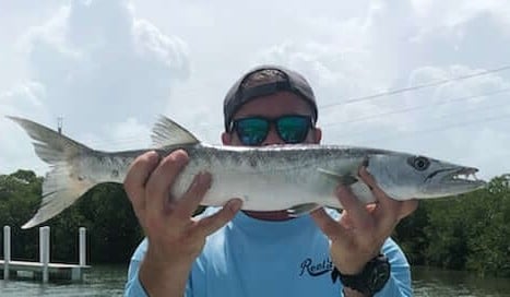
{"type": "MultiPolygon", "coordinates": [[[[246,117],[265,117],[278,118],[284,115],[300,115],[312,116],[312,111],[308,103],[301,99],[298,95],[290,92],[278,92],[269,96],[256,98],[245,104],[234,116],[234,120],[246,117]]],[[[319,143],[321,140],[321,131],[318,128],[312,128],[303,143],[319,143]]],[[[225,145],[244,145],[236,132],[224,132],[222,141],[225,145]]],[[[270,131],[265,140],[260,145],[284,144],[285,142],[276,132],[275,126],[271,124],[270,131]]]]}

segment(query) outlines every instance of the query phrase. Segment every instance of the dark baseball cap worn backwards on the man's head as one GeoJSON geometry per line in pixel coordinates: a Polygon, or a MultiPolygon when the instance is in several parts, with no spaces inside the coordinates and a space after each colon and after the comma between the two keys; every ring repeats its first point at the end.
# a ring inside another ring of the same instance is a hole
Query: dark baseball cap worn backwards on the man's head
{"type": "Polygon", "coordinates": [[[260,66],[251,69],[242,75],[230,87],[223,102],[223,114],[225,119],[225,131],[228,131],[229,124],[237,110],[246,103],[261,96],[268,96],[276,92],[287,91],[295,93],[306,100],[312,109],[313,122],[317,122],[318,109],[313,91],[307,80],[296,71],[286,69],[280,66],[260,66]],[[245,86],[248,78],[251,78],[257,72],[274,70],[280,72],[277,80],[268,80],[252,86],[245,86]]]}

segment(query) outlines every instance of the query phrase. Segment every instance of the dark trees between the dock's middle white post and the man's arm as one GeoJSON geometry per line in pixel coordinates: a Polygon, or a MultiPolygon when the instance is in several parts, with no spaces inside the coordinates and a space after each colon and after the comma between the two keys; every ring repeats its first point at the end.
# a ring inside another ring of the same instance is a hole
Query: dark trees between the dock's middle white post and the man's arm
{"type": "Polygon", "coordinates": [[[129,199],[116,183],[94,187],[48,225],[52,242],[58,242],[51,246],[56,261],[76,261],[80,227],[87,230],[87,259],[92,263],[126,263],[142,239],[129,199]]]}

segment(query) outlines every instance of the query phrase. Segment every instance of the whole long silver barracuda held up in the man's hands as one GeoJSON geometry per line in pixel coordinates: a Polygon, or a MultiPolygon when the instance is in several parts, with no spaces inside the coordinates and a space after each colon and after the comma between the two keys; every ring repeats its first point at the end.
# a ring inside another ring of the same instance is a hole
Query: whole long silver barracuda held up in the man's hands
{"type": "Polygon", "coordinates": [[[43,183],[43,202],[23,228],[39,225],[72,205],[103,182],[123,182],[131,163],[147,151],[162,157],[185,150],[190,157],[171,188],[180,198],[200,171],[212,175],[203,205],[224,205],[232,198],[250,211],[287,210],[290,215],[320,206],[343,209],[335,197],[339,183],[351,186],[364,203],[375,202],[358,178],[361,165],[392,199],[434,199],[474,191],[486,185],[472,179],[476,168],[387,150],[297,144],[263,147],[216,146],[162,117],[153,129],[154,147],[123,152],[92,150],[27,119],[9,117],[34,140],[36,154],[51,165],[43,183]]]}

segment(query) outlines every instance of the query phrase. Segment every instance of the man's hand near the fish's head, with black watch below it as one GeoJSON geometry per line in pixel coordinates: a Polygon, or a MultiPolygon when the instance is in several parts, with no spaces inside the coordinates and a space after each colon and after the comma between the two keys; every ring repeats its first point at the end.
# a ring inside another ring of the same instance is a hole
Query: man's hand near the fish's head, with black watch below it
{"type": "Polygon", "coordinates": [[[400,219],[413,213],[418,205],[416,200],[395,201],[389,198],[364,167],[359,177],[371,189],[377,203],[365,205],[349,188],[340,186],[336,195],[344,206],[340,219],[331,218],[323,209],[311,214],[330,238],[331,259],[343,274],[359,273],[379,254],[400,219]]]}

